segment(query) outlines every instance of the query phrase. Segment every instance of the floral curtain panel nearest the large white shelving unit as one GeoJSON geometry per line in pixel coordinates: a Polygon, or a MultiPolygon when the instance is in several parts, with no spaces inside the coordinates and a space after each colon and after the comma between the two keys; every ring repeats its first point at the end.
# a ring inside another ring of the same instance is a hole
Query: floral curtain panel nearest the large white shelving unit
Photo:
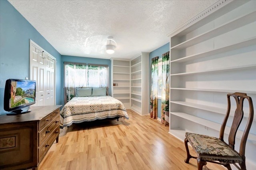
{"type": "Polygon", "coordinates": [[[169,125],[169,53],[162,55],[162,101],[161,101],[161,122],[169,125]]]}

